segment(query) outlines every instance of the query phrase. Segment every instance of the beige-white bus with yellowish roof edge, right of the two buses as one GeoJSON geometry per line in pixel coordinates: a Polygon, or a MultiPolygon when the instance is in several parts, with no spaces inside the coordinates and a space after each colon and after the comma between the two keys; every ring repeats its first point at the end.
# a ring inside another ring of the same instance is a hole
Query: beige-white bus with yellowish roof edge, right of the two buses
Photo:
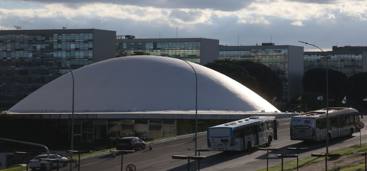
{"type": "Polygon", "coordinates": [[[333,107],[328,112],[329,131],[326,132],[326,108],[294,116],[291,119],[291,140],[322,141],[359,132],[355,123],[359,113],[353,108],[333,107]]]}

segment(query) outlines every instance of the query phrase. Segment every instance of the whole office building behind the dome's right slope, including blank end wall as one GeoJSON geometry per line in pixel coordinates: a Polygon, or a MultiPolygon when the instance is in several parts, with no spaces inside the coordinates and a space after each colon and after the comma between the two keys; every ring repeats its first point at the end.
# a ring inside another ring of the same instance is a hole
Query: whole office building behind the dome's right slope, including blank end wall
{"type": "MultiPolygon", "coordinates": [[[[219,59],[250,60],[265,64],[280,77],[283,85],[282,104],[303,91],[303,47],[262,43],[252,46],[219,46],[219,59]]],[[[277,98],[278,99],[278,98],[277,98]]],[[[280,99],[280,98],[279,98],[280,99]]]]}

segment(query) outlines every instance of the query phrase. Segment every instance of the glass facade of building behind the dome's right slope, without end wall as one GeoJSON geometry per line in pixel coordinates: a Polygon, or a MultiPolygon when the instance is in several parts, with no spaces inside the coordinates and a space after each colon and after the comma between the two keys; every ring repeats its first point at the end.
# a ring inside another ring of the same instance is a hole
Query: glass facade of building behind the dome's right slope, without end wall
{"type": "Polygon", "coordinates": [[[249,60],[272,68],[283,85],[282,103],[288,102],[288,49],[219,50],[219,59],[225,58],[249,60]]]}

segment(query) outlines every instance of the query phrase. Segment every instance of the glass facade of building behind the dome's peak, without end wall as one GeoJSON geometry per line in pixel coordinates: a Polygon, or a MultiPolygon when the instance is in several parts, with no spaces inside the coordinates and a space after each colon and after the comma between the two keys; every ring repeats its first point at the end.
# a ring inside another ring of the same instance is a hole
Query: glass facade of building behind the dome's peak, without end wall
{"type": "Polygon", "coordinates": [[[200,63],[200,42],[116,43],[116,56],[130,56],[135,51],[200,63]]]}

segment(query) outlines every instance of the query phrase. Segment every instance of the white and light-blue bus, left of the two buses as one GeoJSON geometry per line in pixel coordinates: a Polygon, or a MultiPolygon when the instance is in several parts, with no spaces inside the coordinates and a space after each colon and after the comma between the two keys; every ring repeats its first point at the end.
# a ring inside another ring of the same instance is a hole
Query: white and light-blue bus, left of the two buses
{"type": "Polygon", "coordinates": [[[250,150],[277,140],[274,116],[252,116],[207,128],[207,148],[213,151],[250,150]]]}

